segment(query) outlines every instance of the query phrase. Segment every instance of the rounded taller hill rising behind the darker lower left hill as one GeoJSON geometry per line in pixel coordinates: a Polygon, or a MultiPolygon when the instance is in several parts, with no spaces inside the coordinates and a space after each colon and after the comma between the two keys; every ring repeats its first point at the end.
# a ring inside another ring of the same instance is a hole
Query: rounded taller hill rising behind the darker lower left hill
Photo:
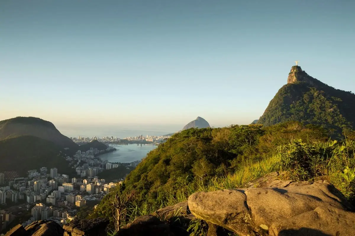
{"type": "Polygon", "coordinates": [[[78,150],[78,145],[61,134],[49,121],[36,117],[16,117],[0,121],[0,140],[18,136],[35,136],[49,140],[61,148],[78,150]]]}

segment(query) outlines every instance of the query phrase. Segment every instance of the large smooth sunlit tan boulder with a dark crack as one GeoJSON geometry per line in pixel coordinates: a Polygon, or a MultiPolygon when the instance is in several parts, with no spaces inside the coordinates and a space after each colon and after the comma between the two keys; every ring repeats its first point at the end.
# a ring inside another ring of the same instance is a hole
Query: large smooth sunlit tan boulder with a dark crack
{"type": "MultiPolygon", "coordinates": [[[[327,229],[329,223],[325,218],[321,217],[317,222],[311,220],[311,215],[316,214],[320,209],[333,209],[333,214],[329,214],[327,220],[337,221],[337,214],[345,215],[345,213],[348,213],[347,217],[355,219],[353,216],[355,213],[347,212],[353,210],[353,206],[346,202],[337,189],[324,180],[313,184],[276,180],[263,188],[197,192],[189,197],[188,205],[191,213],[197,218],[245,236],[268,235],[272,225],[272,235],[287,235],[281,233],[285,232],[283,225],[287,228],[288,219],[302,219],[301,215],[304,213],[309,216],[307,227],[321,230],[324,224],[324,229],[327,229]],[[300,218],[294,218],[296,216],[300,218]]],[[[345,222],[343,224],[338,220],[338,223],[333,230],[338,229],[337,231],[340,232],[342,227],[348,227],[345,222]]],[[[299,226],[302,224],[300,223],[299,226]]],[[[300,235],[307,234],[300,233],[300,235]]]]}

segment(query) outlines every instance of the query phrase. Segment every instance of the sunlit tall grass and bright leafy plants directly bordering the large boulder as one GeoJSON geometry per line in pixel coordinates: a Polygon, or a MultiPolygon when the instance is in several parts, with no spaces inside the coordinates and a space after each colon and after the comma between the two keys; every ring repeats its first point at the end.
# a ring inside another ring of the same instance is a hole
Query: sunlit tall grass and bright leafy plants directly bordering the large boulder
{"type": "MultiPolygon", "coordinates": [[[[215,176],[207,182],[187,176],[187,179],[191,178],[189,184],[177,192],[168,192],[167,200],[161,202],[160,208],[186,201],[191,194],[198,191],[244,188],[253,180],[275,171],[286,172],[285,178],[294,181],[311,181],[326,175],[331,184],[352,201],[355,198],[355,140],[347,139],[343,143],[333,140],[328,142],[291,140],[290,143],[279,146],[277,152],[270,157],[246,159],[234,173],[215,176]]],[[[156,207],[147,203],[141,206],[132,205],[127,217],[132,221],[140,215],[150,214],[156,210],[156,207]]],[[[193,224],[197,225],[198,222],[194,221],[193,224]]],[[[194,228],[196,225],[191,227],[194,228]]]]}

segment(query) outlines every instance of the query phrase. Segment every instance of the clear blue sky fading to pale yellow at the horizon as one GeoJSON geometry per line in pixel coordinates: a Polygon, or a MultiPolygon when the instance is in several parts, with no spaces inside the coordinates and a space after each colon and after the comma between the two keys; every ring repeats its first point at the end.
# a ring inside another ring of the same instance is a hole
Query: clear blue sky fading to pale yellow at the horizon
{"type": "Polygon", "coordinates": [[[258,119],[294,61],[355,91],[355,1],[1,0],[0,120],[258,119]]]}

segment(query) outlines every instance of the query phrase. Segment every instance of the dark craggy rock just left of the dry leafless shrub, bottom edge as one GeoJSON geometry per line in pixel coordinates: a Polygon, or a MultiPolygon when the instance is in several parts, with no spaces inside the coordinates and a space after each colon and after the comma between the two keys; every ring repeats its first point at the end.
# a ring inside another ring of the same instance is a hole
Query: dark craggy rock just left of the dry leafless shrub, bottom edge
{"type": "Polygon", "coordinates": [[[109,221],[104,218],[72,220],[64,225],[64,236],[106,236],[109,221]]]}

